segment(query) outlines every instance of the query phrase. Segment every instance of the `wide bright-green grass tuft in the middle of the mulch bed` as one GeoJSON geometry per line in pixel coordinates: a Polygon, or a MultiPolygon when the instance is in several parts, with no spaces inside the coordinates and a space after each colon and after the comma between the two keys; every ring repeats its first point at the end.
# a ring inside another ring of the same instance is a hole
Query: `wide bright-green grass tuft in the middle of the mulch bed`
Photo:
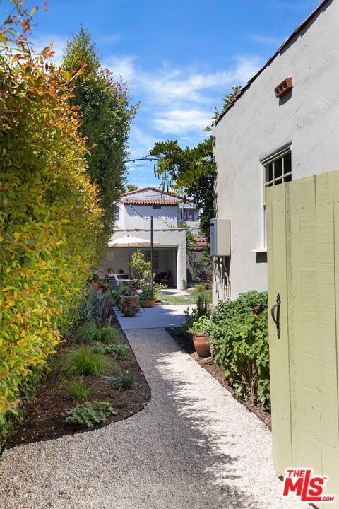
{"type": "Polygon", "coordinates": [[[103,353],[94,352],[88,346],[73,349],[57,360],[54,373],[71,377],[74,375],[103,375],[115,368],[113,361],[103,353]]]}

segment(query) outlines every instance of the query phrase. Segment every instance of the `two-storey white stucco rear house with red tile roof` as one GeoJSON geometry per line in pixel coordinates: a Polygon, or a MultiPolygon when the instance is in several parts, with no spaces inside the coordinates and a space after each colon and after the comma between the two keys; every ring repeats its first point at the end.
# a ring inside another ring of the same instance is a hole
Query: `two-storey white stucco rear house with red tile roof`
{"type": "MultiPolygon", "coordinates": [[[[142,187],[121,194],[117,204],[114,231],[110,242],[133,235],[150,242],[150,218],[153,216],[153,271],[170,271],[172,286],[186,286],[186,228],[198,232],[198,211],[189,199],[163,192],[156,187],[142,187]]],[[[132,249],[132,251],[135,248],[132,249]]],[[[150,247],[141,247],[150,259],[150,247]]],[[[114,271],[129,272],[128,248],[107,247],[100,263],[99,275],[104,276],[108,267],[114,271]]]]}

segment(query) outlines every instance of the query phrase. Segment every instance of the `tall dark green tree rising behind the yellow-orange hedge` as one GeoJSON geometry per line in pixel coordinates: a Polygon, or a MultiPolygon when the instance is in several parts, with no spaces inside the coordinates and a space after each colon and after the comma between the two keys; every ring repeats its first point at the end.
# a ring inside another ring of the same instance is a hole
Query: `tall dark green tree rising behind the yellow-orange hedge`
{"type": "Polygon", "coordinates": [[[83,26],[67,43],[61,67],[70,74],[81,69],[74,79],[71,105],[78,108],[79,129],[87,139],[90,179],[100,189],[105,211],[102,241],[106,242],[115,203],[124,191],[129,129],[138,105],[131,105],[127,84],[102,69],[95,43],[83,26]]]}

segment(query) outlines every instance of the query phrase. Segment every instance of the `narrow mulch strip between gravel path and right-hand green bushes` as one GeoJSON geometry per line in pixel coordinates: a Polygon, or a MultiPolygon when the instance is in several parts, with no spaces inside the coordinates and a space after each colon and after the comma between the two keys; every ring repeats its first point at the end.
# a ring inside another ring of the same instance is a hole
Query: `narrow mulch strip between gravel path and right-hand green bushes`
{"type": "Polygon", "coordinates": [[[206,369],[206,371],[208,371],[208,373],[210,373],[210,375],[212,375],[215,380],[218,380],[221,385],[223,385],[227,390],[231,392],[234,399],[237,399],[239,403],[242,403],[244,406],[246,406],[246,408],[256,414],[256,416],[258,416],[258,418],[261,419],[261,421],[263,421],[263,423],[265,423],[268,428],[271,428],[270,412],[263,410],[258,404],[252,406],[249,402],[237,398],[234,394],[232,385],[227,380],[227,378],[225,378],[225,375],[219,366],[216,365],[215,362],[211,359],[203,359],[199,357],[198,353],[196,353],[194,349],[193,342],[191,339],[189,339],[189,337],[181,333],[180,328],[169,327],[167,332],[169,332],[174,341],[179,344],[182,351],[189,353],[190,356],[194,358],[194,360],[198,362],[202,368],[206,369]]]}

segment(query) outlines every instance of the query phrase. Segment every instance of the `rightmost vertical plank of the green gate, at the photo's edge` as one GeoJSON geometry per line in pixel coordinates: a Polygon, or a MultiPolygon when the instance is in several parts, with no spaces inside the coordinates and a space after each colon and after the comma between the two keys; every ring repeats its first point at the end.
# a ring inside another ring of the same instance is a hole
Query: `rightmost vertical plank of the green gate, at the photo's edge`
{"type": "MultiPolygon", "coordinates": [[[[321,450],[327,492],[339,496],[338,301],[335,291],[335,242],[338,242],[338,173],[316,175],[316,253],[318,334],[321,344],[321,450]],[[337,239],[335,239],[337,228],[337,239]],[[337,303],[337,305],[336,305],[337,303]]],[[[337,246],[338,248],[338,246],[337,246]]],[[[337,266],[338,269],[338,266],[337,266]]],[[[335,504],[339,507],[339,500],[335,504]]],[[[334,506],[332,506],[334,507],[334,506]]]]}

